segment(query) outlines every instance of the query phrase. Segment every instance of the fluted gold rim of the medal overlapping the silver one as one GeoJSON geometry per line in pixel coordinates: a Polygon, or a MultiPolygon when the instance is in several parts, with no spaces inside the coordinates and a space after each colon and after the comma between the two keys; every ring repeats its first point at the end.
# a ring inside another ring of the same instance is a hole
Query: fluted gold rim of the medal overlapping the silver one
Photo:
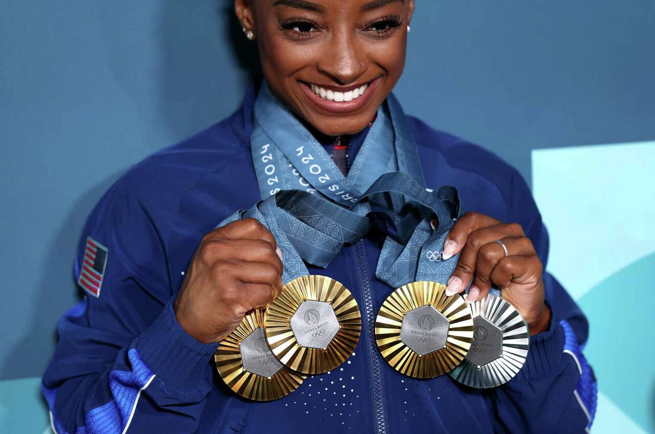
{"type": "Polygon", "coordinates": [[[395,370],[413,378],[434,378],[457,366],[473,342],[473,319],[461,297],[446,296],[446,285],[433,281],[408,283],[384,300],[375,319],[375,342],[395,370]],[[445,347],[419,355],[400,340],[405,314],[432,306],[449,322],[445,347]]]}

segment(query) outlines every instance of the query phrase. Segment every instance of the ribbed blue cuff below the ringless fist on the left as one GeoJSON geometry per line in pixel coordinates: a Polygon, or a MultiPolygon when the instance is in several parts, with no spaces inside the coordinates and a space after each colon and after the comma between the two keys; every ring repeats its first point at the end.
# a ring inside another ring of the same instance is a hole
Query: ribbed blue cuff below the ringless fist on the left
{"type": "Polygon", "coordinates": [[[185,332],[173,310],[172,298],[159,317],[132,345],[166,385],[193,391],[212,381],[210,359],[218,344],[202,344],[185,332]]]}

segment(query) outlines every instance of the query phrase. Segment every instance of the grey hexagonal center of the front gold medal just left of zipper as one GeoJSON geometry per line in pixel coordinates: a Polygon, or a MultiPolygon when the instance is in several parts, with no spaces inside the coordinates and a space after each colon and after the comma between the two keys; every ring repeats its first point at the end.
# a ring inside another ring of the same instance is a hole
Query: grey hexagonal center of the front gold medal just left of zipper
{"type": "Polygon", "coordinates": [[[302,347],[325,349],[339,331],[334,309],[326,302],[305,300],[290,321],[293,336],[302,347]]]}

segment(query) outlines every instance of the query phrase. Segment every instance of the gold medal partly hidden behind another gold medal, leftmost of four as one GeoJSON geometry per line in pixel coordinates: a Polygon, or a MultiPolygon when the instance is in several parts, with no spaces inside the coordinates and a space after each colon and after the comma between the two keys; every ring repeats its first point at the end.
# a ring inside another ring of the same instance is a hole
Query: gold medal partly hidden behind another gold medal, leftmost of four
{"type": "Polygon", "coordinates": [[[214,354],[218,373],[234,392],[253,401],[272,401],[289,395],[305,376],[275,358],[263,328],[264,309],[244,317],[214,354]]]}

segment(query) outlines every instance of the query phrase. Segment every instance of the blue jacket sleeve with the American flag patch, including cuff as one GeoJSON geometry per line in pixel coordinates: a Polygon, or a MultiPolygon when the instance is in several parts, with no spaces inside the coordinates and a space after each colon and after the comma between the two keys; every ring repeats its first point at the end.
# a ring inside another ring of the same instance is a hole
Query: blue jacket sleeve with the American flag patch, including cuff
{"type": "Polygon", "coordinates": [[[128,178],[89,216],[75,262],[86,296],[60,319],[43,376],[56,433],[196,430],[217,344],[176,319],[162,231],[128,178]]]}

